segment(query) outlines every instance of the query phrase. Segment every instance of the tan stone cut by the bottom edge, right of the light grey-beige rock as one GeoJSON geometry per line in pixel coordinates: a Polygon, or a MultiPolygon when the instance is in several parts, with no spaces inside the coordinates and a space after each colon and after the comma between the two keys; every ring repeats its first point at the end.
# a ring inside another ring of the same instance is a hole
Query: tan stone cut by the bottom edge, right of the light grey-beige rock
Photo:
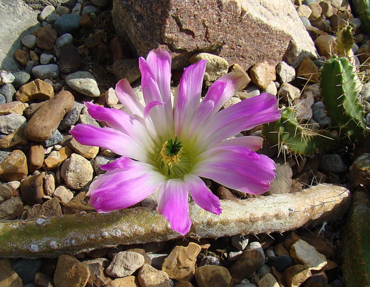
{"type": "Polygon", "coordinates": [[[140,286],[170,287],[168,274],[146,263],[139,269],[137,279],[140,286]]]}

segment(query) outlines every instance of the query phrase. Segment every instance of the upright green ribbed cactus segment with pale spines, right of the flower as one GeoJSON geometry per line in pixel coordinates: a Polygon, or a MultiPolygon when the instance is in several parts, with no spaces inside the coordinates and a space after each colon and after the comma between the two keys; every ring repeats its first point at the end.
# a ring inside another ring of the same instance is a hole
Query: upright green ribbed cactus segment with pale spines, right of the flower
{"type": "Polygon", "coordinates": [[[332,128],[340,137],[357,139],[364,135],[364,108],[358,98],[357,80],[347,58],[328,60],[321,71],[321,96],[332,120],[332,128]]]}

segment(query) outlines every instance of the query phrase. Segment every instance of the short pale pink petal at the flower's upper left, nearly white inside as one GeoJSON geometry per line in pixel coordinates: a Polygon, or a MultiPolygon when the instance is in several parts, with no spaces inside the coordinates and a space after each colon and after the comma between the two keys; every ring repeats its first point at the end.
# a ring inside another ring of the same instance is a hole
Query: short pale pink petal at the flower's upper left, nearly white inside
{"type": "Polygon", "coordinates": [[[124,105],[136,119],[143,118],[144,107],[136,98],[134,90],[127,79],[121,79],[115,89],[118,100],[124,105]]]}

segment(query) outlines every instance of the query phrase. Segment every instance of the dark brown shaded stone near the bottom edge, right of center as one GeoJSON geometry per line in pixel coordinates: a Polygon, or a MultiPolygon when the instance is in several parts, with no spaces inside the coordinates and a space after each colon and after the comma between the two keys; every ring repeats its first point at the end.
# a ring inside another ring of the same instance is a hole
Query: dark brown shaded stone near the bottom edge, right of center
{"type": "Polygon", "coordinates": [[[256,249],[243,251],[236,262],[229,268],[234,284],[239,283],[244,278],[252,276],[262,264],[263,257],[261,252],[256,249]]]}

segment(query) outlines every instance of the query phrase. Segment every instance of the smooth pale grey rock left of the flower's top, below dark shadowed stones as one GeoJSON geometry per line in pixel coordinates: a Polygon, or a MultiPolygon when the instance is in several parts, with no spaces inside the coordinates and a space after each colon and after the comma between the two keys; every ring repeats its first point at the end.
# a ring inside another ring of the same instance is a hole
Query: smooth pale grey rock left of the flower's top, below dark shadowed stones
{"type": "Polygon", "coordinates": [[[78,71],[65,77],[65,82],[69,88],[89,97],[100,96],[95,77],[84,71],[78,71]]]}

